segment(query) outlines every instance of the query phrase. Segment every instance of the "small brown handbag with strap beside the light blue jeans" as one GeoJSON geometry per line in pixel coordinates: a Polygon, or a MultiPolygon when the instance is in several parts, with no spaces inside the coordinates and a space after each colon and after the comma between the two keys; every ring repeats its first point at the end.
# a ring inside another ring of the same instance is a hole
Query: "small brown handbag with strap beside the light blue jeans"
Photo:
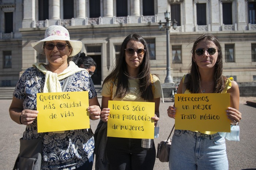
{"type": "Polygon", "coordinates": [[[169,153],[172,144],[172,139],[169,138],[173,132],[174,126],[175,124],[173,125],[169,137],[165,141],[161,141],[157,145],[157,158],[159,159],[160,162],[169,162],[169,153]]]}

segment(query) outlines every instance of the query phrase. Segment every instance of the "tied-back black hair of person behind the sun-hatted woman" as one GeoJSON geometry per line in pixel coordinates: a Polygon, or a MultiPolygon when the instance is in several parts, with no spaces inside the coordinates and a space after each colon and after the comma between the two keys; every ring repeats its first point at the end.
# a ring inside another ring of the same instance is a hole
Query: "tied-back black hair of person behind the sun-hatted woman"
{"type": "Polygon", "coordinates": [[[96,63],[90,56],[86,56],[84,52],[78,53],[77,55],[72,57],[72,61],[78,66],[81,67],[83,65],[83,68],[90,68],[91,66],[94,66],[96,68],[96,63]]]}

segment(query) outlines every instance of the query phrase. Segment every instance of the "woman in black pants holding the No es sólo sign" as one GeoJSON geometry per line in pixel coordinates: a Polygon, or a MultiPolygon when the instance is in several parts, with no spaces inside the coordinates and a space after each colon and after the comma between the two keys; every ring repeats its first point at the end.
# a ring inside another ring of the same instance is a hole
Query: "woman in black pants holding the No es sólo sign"
{"type": "MultiPolygon", "coordinates": [[[[152,86],[150,80],[150,56],[146,40],[138,34],[128,35],[121,45],[113,71],[103,81],[101,120],[108,122],[111,112],[108,108],[109,100],[154,102],[155,116],[151,119],[156,124],[159,119],[161,84],[156,75],[152,77],[155,87],[152,86]],[[114,85],[111,94],[112,81],[114,85]],[[110,98],[111,95],[113,99],[110,98]]],[[[109,161],[109,169],[153,170],[156,157],[154,141],[151,150],[143,149],[141,146],[142,139],[108,137],[106,158],[109,161]]]]}

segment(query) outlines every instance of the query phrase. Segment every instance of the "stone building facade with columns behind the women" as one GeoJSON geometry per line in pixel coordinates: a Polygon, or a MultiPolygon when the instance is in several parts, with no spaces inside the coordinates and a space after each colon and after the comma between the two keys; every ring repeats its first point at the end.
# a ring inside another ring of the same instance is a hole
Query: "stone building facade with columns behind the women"
{"type": "Polygon", "coordinates": [[[147,40],[151,72],[162,83],[167,72],[172,82],[188,72],[193,40],[206,32],[221,42],[225,76],[256,81],[256,0],[1,0],[0,86],[15,86],[33,63],[47,63],[31,43],[50,25],[63,25],[72,40],[82,41],[81,52],[97,63],[95,84],[102,84],[121,42],[134,32],[147,40]]]}

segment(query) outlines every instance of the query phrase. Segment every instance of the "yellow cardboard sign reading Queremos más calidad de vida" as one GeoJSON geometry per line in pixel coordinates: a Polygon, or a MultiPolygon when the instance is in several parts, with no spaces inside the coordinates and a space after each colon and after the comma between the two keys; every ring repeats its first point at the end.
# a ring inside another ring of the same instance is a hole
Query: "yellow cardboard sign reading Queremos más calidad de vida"
{"type": "Polygon", "coordinates": [[[90,128],[88,107],[88,91],[38,93],[37,131],[90,128]]]}

